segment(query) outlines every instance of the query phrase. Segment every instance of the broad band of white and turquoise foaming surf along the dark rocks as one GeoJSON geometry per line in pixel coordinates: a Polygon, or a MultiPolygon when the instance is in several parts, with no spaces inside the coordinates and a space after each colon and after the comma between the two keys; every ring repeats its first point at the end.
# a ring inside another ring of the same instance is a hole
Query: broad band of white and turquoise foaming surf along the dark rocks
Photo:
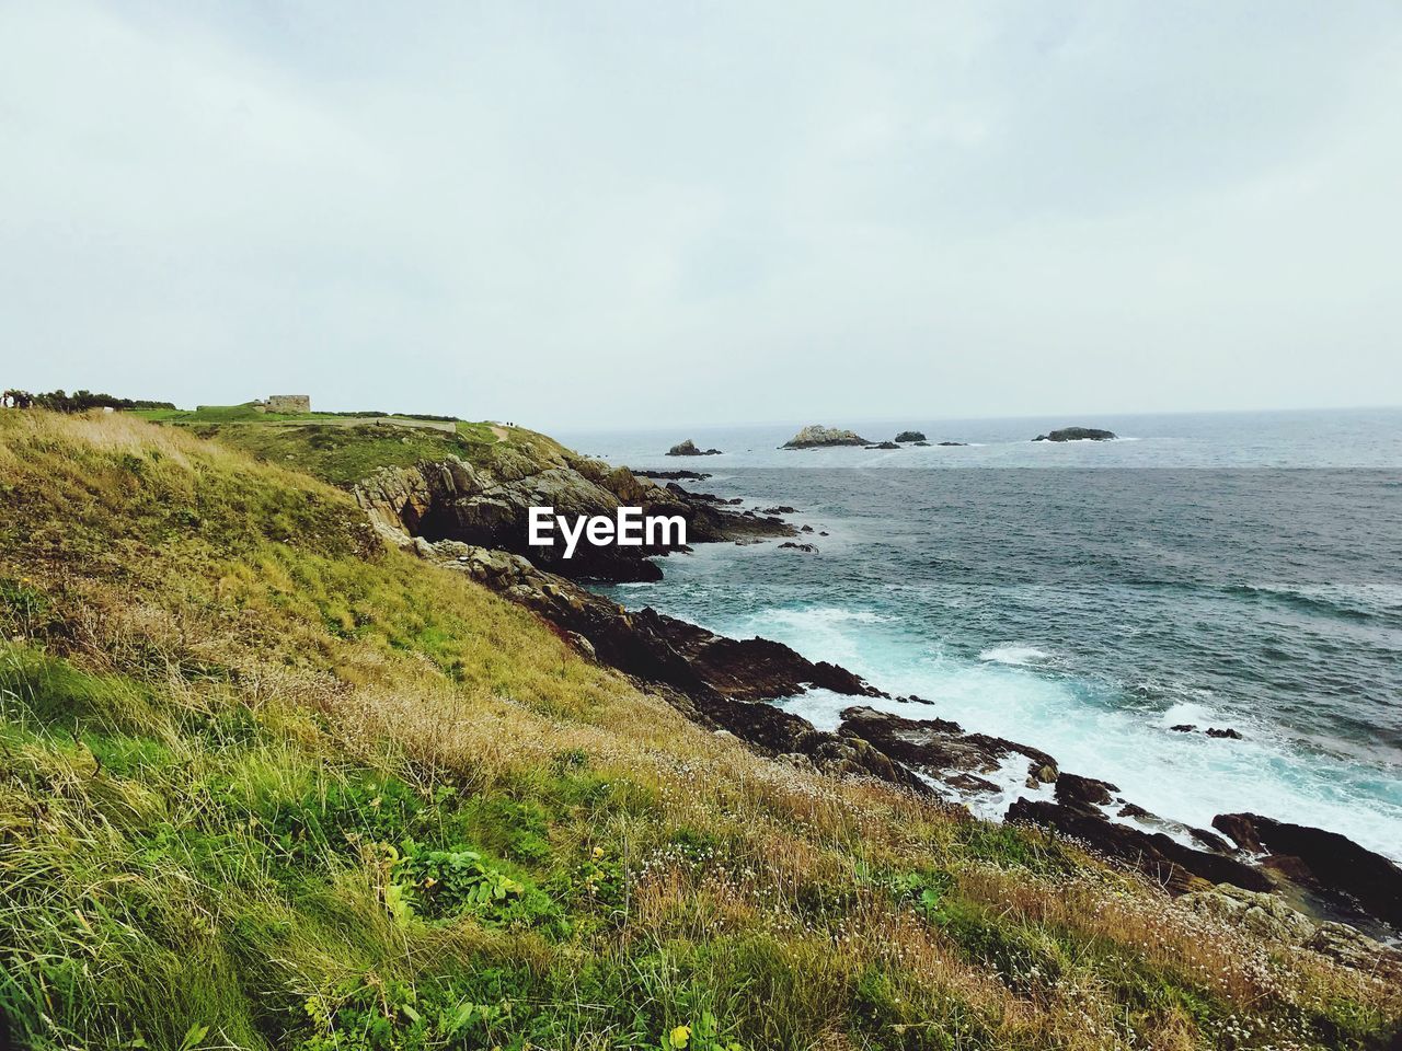
{"type": "MultiPolygon", "coordinates": [[[[837,632],[837,621],[829,631],[837,632]]],[[[833,639],[803,638],[770,625],[812,657],[831,659],[833,639]]],[[[847,622],[859,633],[858,622],[847,622]]],[[[840,633],[840,632],[838,632],[840,633]]],[[[1095,703],[1064,678],[1047,678],[1037,667],[927,653],[911,659],[878,639],[843,639],[841,663],[873,685],[896,694],[916,692],[934,702],[914,709],[883,698],[850,698],[812,691],[782,702],[820,729],[836,729],[840,713],[854,703],[871,705],[908,719],[953,719],[965,730],[988,733],[1042,748],[1064,771],[1116,785],[1119,796],[1169,821],[1210,827],[1216,814],[1252,811],[1342,832],[1350,839],[1402,862],[1402,778],[1398,771],[1319,754],[1304,755],[1267,723],[1214,710],[1209,698],[1180,701],[1166,710],[1108,708],[1095,703]],[[1204,733],[1168,733],[1176,723],[1234,726],[1244,740],[1204,733]],[[1380,795],[1382,799],[1380,799],[1380,795]]],[[[995,647],[998,649],[998,647],[995,647]]],[[[976,813],[1001,817],[1026,789],[1026,761],[1007,764],[987,776],[997,795],[967,802],[976,813]]],[[[1119,807],[1116,807],[1119,809],[1119,807]]],[[[1180,830],[1165,828],[1190,842],[1180,830]]]]}

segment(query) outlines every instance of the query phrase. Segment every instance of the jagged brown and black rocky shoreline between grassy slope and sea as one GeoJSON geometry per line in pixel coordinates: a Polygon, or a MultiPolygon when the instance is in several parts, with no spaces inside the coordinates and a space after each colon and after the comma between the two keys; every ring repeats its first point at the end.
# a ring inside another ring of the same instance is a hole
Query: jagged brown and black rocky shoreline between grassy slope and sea
{"type": "Polygon", "coordinates": [[[1220,814],[1213,830],[1192,828],[1124,799],[1115,785],[1061,771],[1035,747],[966,733],[944,719],[907,719],[854,703],[836,731],[826,731],[775,708],[768,702],[810,688],[854,701],[890,698],[782,643],[729,639],[651,608],[628,611],[579,583],[656,580],[662,570],[652,556],[669,551],[614,548],[566,565],[548,549],[524,548],[520,523],[531,504],[608,513],[627,503],[684,516],[693,542],[758,542],[796,537],[799,530],[778,517],[792,509],[739,511],[676,481],[658,485],[582,457],[534,467],[484,471],[449,460],[384,468],[355,486],[355,495],[398,545],[533,610],[585,654],[660,689],[693,720],[764,755],[878,778],[952,806],[995,797],[995,781],[1011,774],[1026,790],[1004,820],[1071,837],[1172,894],[1221,898],[1204,908],[1260,912],[1259,901],[1239,895],[1262,895],[1298,915],[1295,926],[1308,925],[1311,937],[1325,932],[1329,952],[1340,959],[1387,953],[1370,935],[1394,939],[1402,929],[1402,869],[1335,832],[1255,814],[1220,814]]]}

